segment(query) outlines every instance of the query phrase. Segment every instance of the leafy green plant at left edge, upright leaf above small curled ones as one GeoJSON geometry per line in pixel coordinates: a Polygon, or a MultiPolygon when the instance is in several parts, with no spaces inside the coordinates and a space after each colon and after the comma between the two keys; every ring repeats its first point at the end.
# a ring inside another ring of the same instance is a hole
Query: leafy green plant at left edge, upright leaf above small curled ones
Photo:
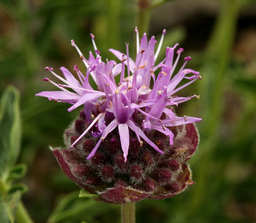
{"type": "Polygon", "coordinates": [[[27,214],[20,203],[20,195],[27,191],[27,186],[16,183],[24,177],[27,168],[25,164],[15,165],[20,152],[21,127],[19,92],[14,87],[7,87],[2,95],[0,124],[0,222],[7,223],[18,220],[20,211],[24,211],[24,216],[27,214]]]}

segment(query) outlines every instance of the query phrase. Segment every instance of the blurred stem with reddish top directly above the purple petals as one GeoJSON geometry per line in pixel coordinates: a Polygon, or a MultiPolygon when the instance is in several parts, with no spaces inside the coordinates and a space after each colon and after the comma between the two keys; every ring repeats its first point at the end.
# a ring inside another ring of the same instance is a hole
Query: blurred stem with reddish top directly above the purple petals
{"type": "Polygon", "coordinates": [[[148,32],[150,15],[151,15],[151,4],[149,0],[139,0],[138,2],[138,30],[139,35],[142,37],[143,33],[148,32]]]}

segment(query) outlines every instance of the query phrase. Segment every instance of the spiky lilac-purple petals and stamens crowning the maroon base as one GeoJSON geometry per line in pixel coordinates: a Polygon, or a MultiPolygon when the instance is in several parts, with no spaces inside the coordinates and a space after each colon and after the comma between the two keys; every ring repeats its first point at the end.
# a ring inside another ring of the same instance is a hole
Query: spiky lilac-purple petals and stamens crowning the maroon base
{"type": "Polygon", "coordinates": [[[163,154],[164,151],[149,139],[148,134],[151,130],[169,137],[169,146],[172,146],[174,133],[171,127],[201,121],[201,118],[185,115],[183,117],[176,116],[171,108],[173,105],[178,106],[193,97],[198,97],[197,95],[191,97],[176,95],[177,92],[195,82],[196,79],[201,79],[199,72],[185,69],[191,58],[186,57],[182,67],[174,74],[180,55],[183,52],[182,48],[176,50],[178,44],[172,48],[167,47],[166,58],[161,63],[156,64],[166,30],[162,33],[156,53],[154,37],[151,37],[148,41],[145,33],[139,44],[137,28],[135,32],[137,35],[135,61],[129,56],[128,44],[126,44],[126,54],[110,49],[110,52],[120,60],[118,64],[115,61],[102,61],[100,52],[94,42],[94,35],[91,34],[90,36],[94,45],[95,57],[90,52],[89,59],[84,58],[72,40],[71,44],[76,48],[87,68],[86,75],[82,74],[76,65],[74,71],[76,71],[77,78],[64,67],[61,68],[64,78],[53,72],[52,68],[46,68],[46,71],[50,71],[53,76],[60,79],[62,84],[56,84],[48,78],[45,78],[44,81],[51,82],[60,90],[36,94],[36,96],[48,97],[49,100],[55,100],[56,102],[70,103],[72,106],[68,108],[68,112],[81,105],[84,106],[87,128],[73,141],[70,147],[73,148],[82,138],[88,135],[98,138],[97,143],[87,155],[87,160],[95,156],[100,144],[115,128],[118,128],[121,150],[126,162],[130,148],[131,132],[135,134],[139,144],[143,144],[144,140],[157,152],[163,154]],[[89,75],[97,84],[97,90],[90,86],[89,75]],[[116,76],[120,77],[119,82],[115,81],[116,76]],[[183,79],[188,81],[186,84],[179,86],[183,79]],[[151,82],[153,82],[152,88],[151,82]],[[143,117],[142,120],[140,119],[142,123],[135,120],[135,114],[137,116],[140,114],[143,117]],[[95,129],[95,131],[90,131],[91,129],[95,129]]]}

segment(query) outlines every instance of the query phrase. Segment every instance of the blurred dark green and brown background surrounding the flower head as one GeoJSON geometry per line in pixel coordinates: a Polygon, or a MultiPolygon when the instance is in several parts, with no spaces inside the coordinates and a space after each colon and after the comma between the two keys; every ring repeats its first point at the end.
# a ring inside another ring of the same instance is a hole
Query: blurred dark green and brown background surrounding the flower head
{"type": "Polygon", "coordinates": [[[63,145],[64,129],[79,111],[34,95],[54,89],[43,82],[45,66],[83,68],[70,40],[86,57],[93,50],[89,33],[102,58],[114,59],[108,48],[125,51],[125,42],[135,55],[136,25],[157,40],[166,28],[163,47],[179,42],[183,56],[192,56],[187,67],[202,79],[181,93],[200,99],[177,113],[203,118],[190,160],[196,184],[173,198],[139,202],[137,222],[256,222],[254,0],[0,0],[0,94],[7,85],[20,92],[18,163],[27,165],[22,200],[30,216],[39,223],[120,222],[119,206],[77,198],[79,187],[48,149],[63,145]]]}

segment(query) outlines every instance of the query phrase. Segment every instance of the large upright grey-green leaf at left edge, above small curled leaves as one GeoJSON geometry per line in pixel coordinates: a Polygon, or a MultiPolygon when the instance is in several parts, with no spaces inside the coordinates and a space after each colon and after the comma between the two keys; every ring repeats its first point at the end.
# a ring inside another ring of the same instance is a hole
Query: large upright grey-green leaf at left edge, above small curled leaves
{"type": "Polygon", "coordinates": [[[0,177],[15,164],[20,151],[19,92],[7,87],[0,107],[0,177]]]}

